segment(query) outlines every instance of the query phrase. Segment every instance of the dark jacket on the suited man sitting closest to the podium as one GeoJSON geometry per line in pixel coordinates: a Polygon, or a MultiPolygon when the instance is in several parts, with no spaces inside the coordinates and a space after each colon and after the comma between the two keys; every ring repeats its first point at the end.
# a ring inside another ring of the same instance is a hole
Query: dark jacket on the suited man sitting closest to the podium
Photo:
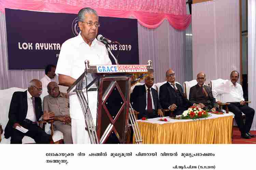
{"type": "MultiPolygon", "coordinates": [[[[157,109],[161,109],[161,104],[158,99],[158,94],[157,91],[154,88],[151,88],[152,91],[152,97],[155,105],[155,110],[157,113],[157,109]]],[[[133,89],[133,92],[131,94],[131,103],[132,103],[132,108],[135,109],[137,112],[140,112],[140,114],[145,112],[146,108],[146,87],[145,84],[140,85],[140,86],[135,86],[133,89]]]]}

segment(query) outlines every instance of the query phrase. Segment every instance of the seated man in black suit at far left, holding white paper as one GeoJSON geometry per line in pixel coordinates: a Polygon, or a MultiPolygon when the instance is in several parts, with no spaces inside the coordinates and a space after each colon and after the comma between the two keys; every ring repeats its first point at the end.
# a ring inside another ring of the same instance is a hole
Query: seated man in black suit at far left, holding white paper
{"type": "Polygon", "coordinates": [[[9,121],[5,127],[5,138],[11,136],[11,143],[22,143],[26,135],[35,140],[36,143],[49,143],[49,136],[41,129],[36,121],[39,119],[53,119],[54,113],[42,112],[41,98],[42,83],[33,79],[29,82],[28,90],[14,92],[9,109],[9,121]],[[23,133],[16,129],[22,126],[28,129],[23,133]]]}

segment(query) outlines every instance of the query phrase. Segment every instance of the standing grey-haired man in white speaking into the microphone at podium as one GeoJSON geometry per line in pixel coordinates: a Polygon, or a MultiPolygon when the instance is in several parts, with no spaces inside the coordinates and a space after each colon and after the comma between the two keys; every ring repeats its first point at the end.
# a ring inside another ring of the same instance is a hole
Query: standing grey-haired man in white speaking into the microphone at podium
{"type": "MultiPolygon", "coordinates": [[[[55,71],[59,74],[59,83],[65,86],[71,86],[84,72],[85,60],[89,60],[90,65],[112,64],[105,45],[96,39],[100,26],[97,12],[89,7],[83,8],[78,13],[78,21],[81,32],[62,44],[55,71]]],[[[88,76],[87,81],[92,81],[92,78],[88,76]]],[[[96,123],[98,92],[96,86],[91,90],[88,91],[88,103],[96,123]]],[[[82,107],[74,92],[69,95],[69,100],[73,143],[90,143],[82,107]]]]}

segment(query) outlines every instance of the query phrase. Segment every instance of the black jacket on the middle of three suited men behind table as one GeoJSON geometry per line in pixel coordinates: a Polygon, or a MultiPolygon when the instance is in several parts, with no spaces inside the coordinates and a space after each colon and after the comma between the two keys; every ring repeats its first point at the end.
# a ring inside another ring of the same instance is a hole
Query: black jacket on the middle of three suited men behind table
{"type": "MultiPolygon", "coordinates": [[[[190,107],[192,104],[187,100],[187,98],[183,95],[183,89],[181,85],[176,83],[176,87],[179,91],[179,93],[183,96],[183,106],[184,108],[190,107]]],[[[176,93],[174,88],[170,85],[169,82],[166,82],[165,84],[161,85],[159,88],[159,100],[161,103],[161,106],[164,109],[168,109],[170,105],[176,104],[176,93]]]]}

